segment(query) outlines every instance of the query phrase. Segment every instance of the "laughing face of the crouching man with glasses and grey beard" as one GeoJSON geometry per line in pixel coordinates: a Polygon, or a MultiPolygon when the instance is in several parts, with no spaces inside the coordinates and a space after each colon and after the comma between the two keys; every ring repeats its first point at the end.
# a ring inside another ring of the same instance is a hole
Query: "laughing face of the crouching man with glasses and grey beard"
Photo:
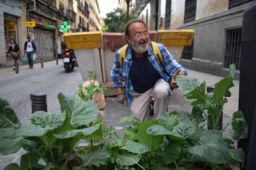
{"type": "Polygon", "coordinates": [[[132,49],[137,53],[148,51],[150,38],[147,27],[140,22],[132,23],[129,27],[129,36],[126,36],[132,49]]]}

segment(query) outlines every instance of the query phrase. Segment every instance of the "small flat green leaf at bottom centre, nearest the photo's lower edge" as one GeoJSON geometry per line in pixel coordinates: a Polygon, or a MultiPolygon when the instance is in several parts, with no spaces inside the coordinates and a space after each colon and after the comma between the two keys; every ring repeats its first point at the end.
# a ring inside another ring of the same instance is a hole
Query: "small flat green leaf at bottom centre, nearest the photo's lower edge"
{"type": "Polygon", "coordinates": [[[131,166],[139,163],[139,161],[140,158],[137,155],[132,155],[129,153],[122,153],[116,157],[116,162],[120,165],[131,166]]]}

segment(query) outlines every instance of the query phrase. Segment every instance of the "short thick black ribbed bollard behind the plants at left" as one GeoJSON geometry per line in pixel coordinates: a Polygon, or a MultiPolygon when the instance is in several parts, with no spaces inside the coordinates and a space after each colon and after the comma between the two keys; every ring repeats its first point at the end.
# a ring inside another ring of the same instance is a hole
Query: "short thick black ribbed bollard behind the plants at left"
{"type": "Polygon", "coordinates": [[[30,94],[30,100],[32,101],[32,113],[35,111],[47,111],[46,94],[30,94]]]}

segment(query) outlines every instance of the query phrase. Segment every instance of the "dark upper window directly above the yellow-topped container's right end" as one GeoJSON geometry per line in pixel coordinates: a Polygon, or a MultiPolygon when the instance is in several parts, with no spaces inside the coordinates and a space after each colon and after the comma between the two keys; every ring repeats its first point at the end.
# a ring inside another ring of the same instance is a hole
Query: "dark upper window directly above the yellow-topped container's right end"
{"type": "Polygon", "coordinates": [[[196,7],[197,7],[197,0],[186,0],[185,1],[184,23],[195,20],[196,7]]]}

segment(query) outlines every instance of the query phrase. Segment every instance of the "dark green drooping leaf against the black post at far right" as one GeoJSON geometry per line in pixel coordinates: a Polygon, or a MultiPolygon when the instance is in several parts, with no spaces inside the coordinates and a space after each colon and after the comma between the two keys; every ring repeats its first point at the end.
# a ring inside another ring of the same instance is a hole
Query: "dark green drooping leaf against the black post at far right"
{"type": "Polygon", "coordinates": [[[248,136],[248,127],[242,111],[236,111],[233,114],[232,127],[229,134],[234,140],[245,139],[248,136]]]}

